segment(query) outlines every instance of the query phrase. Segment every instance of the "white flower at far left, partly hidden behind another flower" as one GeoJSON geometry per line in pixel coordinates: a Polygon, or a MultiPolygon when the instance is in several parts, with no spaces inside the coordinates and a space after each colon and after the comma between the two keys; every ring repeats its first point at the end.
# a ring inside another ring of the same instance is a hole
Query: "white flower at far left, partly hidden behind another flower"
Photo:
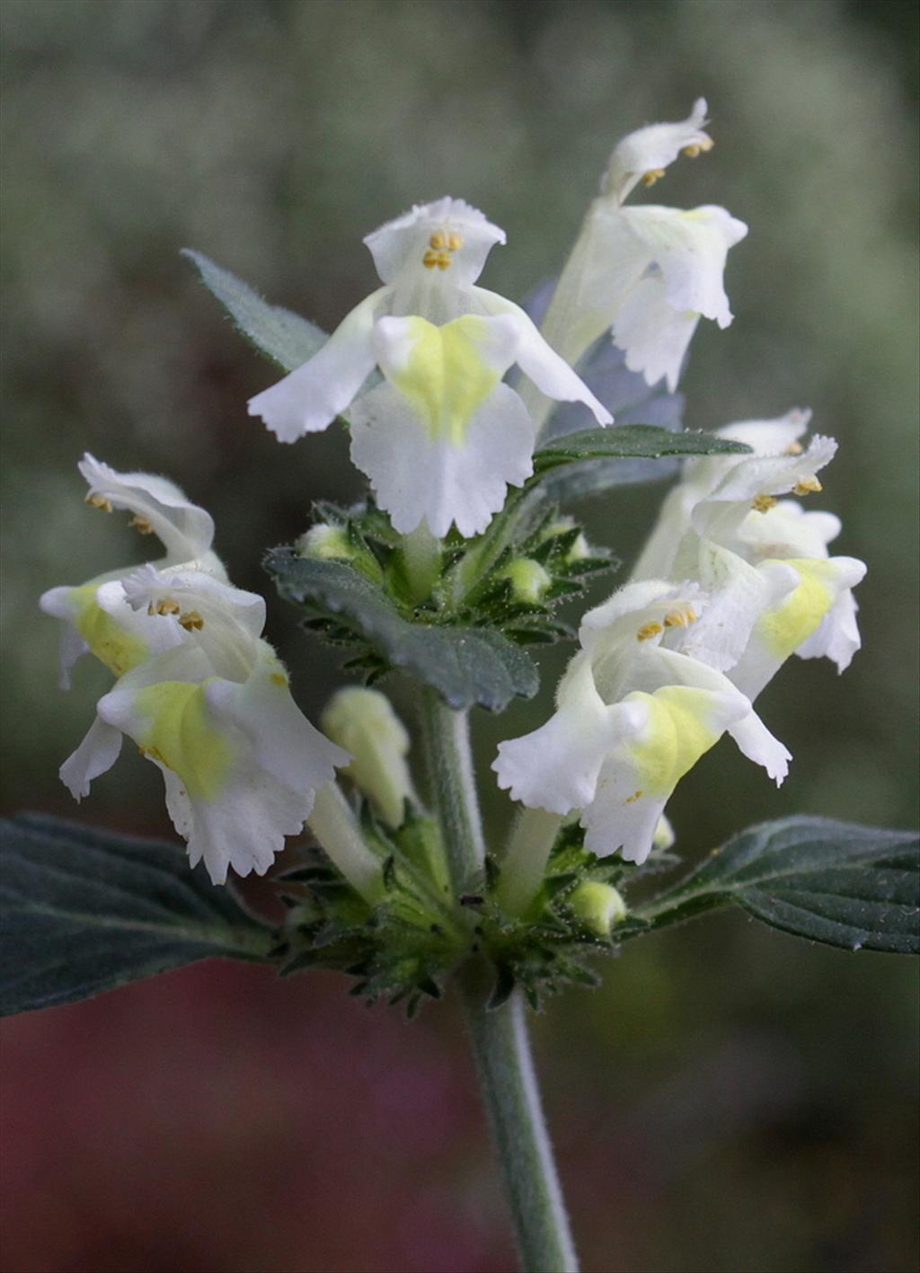
{"type": "MultiPolygon", "coordinates": [[[[155,563],[159,569],[187,564],[218,579],[227,578],[223,564],[211,551],[214,522],[210,514],[190,503],[173,482],[153,474],[116,472],[90,454],[85,454],[78,467],[89,486],[88,504],[107,513],[125,509],[134,514],[131,524],[141,535],[155,535],[160,540],[165,555],[155,563]]],[[[121,589],[102,587],[132,569],[135,566],[122,566],[84,584],[50,588],[41,597],[42,610],[66,625],[61,636],[61,689],[70,687],[70,670],[88,652],[116,676],[151,653],[149,633],[126,605],[121,589]]]]}

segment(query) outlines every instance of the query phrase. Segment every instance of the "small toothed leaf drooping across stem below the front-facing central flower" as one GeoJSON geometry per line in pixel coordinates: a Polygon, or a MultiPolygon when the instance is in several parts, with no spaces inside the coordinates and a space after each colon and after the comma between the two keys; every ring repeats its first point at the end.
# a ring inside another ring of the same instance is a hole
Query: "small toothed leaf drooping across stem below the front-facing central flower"
{"type": "Polygon", "coordinates": [[[537,668],[501,633],[487,628],[414,622],[386,592],[345,561],[319,561],[275,549],[266,559],[279,592],[310,620],[336,622],[355,643],[377,651],[388,667],[412,673],[452,708],[478,703],[500,712],[515,696],[537,693],[537,668]]]}

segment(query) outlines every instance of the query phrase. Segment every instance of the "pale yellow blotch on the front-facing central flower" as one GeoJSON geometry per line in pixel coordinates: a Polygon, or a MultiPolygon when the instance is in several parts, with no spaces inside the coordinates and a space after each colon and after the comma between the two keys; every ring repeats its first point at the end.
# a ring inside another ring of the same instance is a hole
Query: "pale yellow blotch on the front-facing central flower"
{"type": "Polygon", "coordinates": [[[436,327],[425,318],[408,318],[412,348],[406,365],[388,372],[408,398],[430,437],[463,446],[467,425],[499,383],[500,376],[484,360],[480,344],[486,320],[464,314],[436,327]]]}

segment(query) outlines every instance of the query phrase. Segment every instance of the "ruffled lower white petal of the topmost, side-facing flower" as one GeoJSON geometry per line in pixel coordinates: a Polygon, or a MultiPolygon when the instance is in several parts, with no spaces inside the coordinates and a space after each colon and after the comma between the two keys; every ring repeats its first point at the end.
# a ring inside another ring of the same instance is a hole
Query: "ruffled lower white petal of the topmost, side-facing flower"
{"type": "Polygon", "coordinates": [[[673,393],[699,321],[699,313],[671,307],[662,279],[643,279],[616,316],[613,342],[625,350],[631,372],[640,372],[649,384],[666,377],[673,393]]]}

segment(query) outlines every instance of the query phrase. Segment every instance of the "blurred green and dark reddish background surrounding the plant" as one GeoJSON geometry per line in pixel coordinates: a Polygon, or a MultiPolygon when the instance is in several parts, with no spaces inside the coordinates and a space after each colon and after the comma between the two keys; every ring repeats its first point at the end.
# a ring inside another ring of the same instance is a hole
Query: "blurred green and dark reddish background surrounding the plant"
{"type": "MultiPolygon", "coordinates": [[[[734,325],[682,388],[711,428],[811,406],[841,453],[823,507],[864,558],[864,649],[761,700],[795,754],[777,794],[723,743],[673,815],[696,855],[791,811],[916,819],[916,11],[839,0],[5,0],[4,771],[8,810],[75,808],[56,769],[106,675],[55,687],[38,593],[143,547],[83,504],[84,449],[167,472],[243,587],[317,496],[360,485],[338,430],[246,415],[272,368],[178,250],[331,328],[374,285],[360,243],[411,202],[508,230],[485,283],[559,269],[616,140],[709,98],[715,150],[655,200],[724,204],[734,325]]],[[[585,505],[626,563],[660,486],[585,505]]],[[[813,507],[818,507],[816,503],[813,507]]],[[[316,714],[337,659],[272,602],[316,714]]],[[[560,667],[546,659],[547,686],[560,667]]],[[[405,689],[393,682],[408,709],[405,689]]],[[[477,721],[484,764],[543,705],[477,721]]],[[[495,819],[506,816],[486,791],[495,819]]],[[[79,816],[164,831],[125,754],[79,816]]],[[[585,1267],[916,1264],[916,979],[738,915],[640,943],[537,1023],[585,1267]]],[[[412,1027],[333,978],[200,967],[8,1022],[9,1273],[510,1268],[454,1011],[412,1027]]]]}

